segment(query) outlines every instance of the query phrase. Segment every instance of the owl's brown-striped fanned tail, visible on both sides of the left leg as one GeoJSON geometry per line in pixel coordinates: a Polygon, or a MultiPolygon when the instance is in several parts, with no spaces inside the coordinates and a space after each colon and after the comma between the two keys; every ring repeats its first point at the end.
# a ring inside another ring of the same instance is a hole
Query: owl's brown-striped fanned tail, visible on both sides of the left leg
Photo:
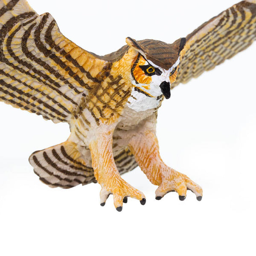
{"type": "MultiPolygon", "coordinates": [[[[29,163],[34,167],[39,179],[52,188],[69,189],[79,184],[96,182],[91,160],[88,157],[89,149],[83,149],[83,153],[87,151],[87,154],[81,154],[78,148],[75,143],[64,142],[34,152],[29,157],[29,163]]],[[[114,152],[114,159],[120,174],[137,167],[137,162],[128,148],[114,152]]]]}

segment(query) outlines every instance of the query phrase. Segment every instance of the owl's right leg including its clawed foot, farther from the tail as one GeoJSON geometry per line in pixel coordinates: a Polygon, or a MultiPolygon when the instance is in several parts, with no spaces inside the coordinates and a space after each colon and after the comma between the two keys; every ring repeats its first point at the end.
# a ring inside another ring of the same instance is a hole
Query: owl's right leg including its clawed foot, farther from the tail
{"type": "MultiPolygon", "coordinates": [[[[153,120],[154,121],[154,120],[153,120]]],[[[156,199],[160,200],[168,192],[176,191],[181,201],[186,198],[187,189],[195,193],[201,201],[201,187],[186,175],[166,166],[160,157],[155,135],[155,122],[145,122],[143,128],[131,138],[129,147],[142,171],[154,185],[157,185],[156,199]]]]}

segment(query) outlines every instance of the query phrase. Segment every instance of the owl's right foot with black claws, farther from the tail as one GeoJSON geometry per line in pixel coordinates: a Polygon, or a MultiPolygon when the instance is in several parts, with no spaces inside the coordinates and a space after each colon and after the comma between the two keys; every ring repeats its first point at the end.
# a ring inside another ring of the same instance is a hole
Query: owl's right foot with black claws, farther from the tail
{"type": "Polygon", "coordinates": [[[187,190],[195,193],[198,201],[202,200],[203,190],[201,186],[190,180],[186,175],[169,169],[168,171],[163,171],[161,176],[162,182],[155,192],[157,200],[162,199],[169,192],[177,192],[180,201],[184,201],[187,190]]]}

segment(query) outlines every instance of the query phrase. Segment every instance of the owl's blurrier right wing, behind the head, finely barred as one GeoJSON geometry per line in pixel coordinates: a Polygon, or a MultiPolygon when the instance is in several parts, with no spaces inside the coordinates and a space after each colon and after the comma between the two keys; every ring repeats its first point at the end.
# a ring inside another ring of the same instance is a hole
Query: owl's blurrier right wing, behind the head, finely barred
{"type": "Polygon", "coordinates": [[[212,70],[249,47],[256,39],[256,0],[232,6],[186,37],[180,71],[172,88],[212,70]]]}

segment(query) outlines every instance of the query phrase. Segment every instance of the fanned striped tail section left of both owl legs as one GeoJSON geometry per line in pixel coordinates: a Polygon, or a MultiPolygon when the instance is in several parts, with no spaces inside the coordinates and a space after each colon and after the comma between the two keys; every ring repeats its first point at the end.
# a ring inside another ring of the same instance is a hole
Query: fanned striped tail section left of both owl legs
{"type": "Polygon", "coordinates": [[[87,166],[77,145],[64,142],[29,157],[40,180],[50,187],[72,188],[95,180],[93,168],[87,166]]]}

